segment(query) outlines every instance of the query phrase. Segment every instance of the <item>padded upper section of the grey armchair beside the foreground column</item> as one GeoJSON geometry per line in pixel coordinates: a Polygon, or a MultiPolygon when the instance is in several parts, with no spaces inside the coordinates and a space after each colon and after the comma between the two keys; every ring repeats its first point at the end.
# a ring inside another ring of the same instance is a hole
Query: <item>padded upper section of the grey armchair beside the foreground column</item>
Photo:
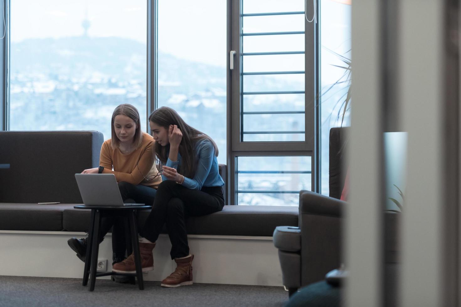
{"type": "MultiPolygon", "coordinates": [[[[299,214],[319,214],[334,217],[342,217],[346,202],[314,193],[312,191],[300,191],[299,214]]],[[[301,217],[301,216],[300,216],[301,217]]],[[[301,224],[300,224],[301,225],[301,224]]]]}

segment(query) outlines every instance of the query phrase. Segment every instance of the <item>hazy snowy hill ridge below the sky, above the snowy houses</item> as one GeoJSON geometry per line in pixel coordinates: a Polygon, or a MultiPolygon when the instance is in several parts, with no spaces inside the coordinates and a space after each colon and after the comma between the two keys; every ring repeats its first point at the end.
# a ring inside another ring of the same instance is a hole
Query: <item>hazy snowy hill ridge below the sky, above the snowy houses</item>
{"type": "MultiPolygon", "coordinates": [[[[12,42],[11,73],[13,77],[34,75],[54,80],[89,81],[95,76],[112,82],[139,80],[145,86],[146,45],[120,37],[86,36],[12,42]]],[[[173,92],[189,96],[210,88],[226,88],[224,65],[198,63],[162,52],[159,52],[158,77],[159,87],[168,97],[173,92]]],[[[293,83],[273,76],[248,77],[244,86],[258,91],[283,91],[294,88],[293,83]]],[[[299,87],[303,87],[302,83],[296,90],[299,87]]]]}

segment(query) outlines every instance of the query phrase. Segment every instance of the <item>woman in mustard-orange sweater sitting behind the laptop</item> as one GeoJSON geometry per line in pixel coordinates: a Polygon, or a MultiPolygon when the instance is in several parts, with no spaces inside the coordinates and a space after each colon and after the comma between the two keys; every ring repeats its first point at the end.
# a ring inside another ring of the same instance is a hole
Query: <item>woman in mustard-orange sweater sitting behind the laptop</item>
{"type": "MultiPolygon", "coordinates": [[[[155,167],[155,141],[141,130],[138,110],[131,104],[120,104],[112,113],[112,136],[101,147],[99,168],[85,169],[82,174],[114,174],[122,199],[152,205],[161,182],[155,167]],[[113,168],[113,170],[112,170],[113,168]]],[[[125,259],[125,227],[120,217],[103,218],[99,242],[112,227],[113,263],[125,259]]],[[[77,257],[85,261],[87,240],[75,237],[67,241],[77,257]]]]}

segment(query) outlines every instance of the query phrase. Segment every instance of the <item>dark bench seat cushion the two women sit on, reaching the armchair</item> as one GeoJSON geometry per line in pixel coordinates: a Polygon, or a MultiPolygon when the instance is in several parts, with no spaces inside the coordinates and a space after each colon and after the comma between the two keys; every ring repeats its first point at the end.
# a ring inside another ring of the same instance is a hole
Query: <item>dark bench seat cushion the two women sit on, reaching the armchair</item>
{"type": "MultiPolygon", "coordinates": [[[[138,212],[138,225],[144,225],[150,210],[138,212]]],[[[84,231],[89,228],[88,210],[65,209],[64,229],[84,231]]],[[[297,207],[224,206],[223,211],[186,220],[187,232],[199,235],[267,236],[277,226],[297,226],[297,207]]]]}

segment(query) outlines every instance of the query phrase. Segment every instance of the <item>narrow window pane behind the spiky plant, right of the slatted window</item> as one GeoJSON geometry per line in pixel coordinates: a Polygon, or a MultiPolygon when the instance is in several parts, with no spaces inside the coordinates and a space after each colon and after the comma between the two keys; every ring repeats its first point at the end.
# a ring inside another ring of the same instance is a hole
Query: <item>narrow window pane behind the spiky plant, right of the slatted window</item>
{"type": "Polygon", "coordinates": [[[321,0],[320,161],[321,193],[329,194],[330,128],[349,126],[348,98],[351,55],[351,1],[321,0]],[[346,113],[343,116],[344,108],[346,113]]]}

